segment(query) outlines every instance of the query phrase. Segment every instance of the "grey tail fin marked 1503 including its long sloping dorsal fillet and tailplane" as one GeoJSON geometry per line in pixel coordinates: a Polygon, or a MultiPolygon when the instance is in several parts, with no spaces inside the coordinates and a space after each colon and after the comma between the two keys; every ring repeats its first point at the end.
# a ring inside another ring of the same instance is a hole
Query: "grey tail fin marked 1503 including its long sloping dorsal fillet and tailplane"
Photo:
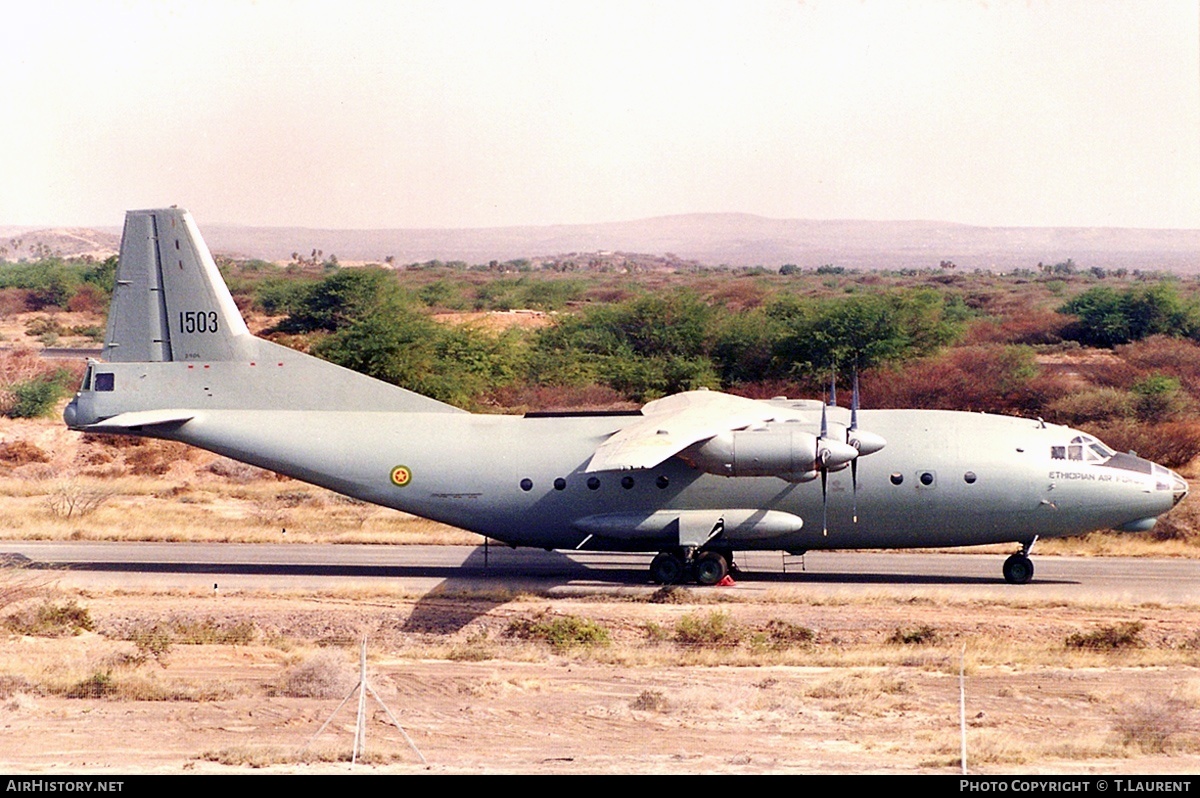
{"type": "Polygon", "coordinates": [[[120,432],[221,409],[462,413],[254,337],[192,216],[130,211],[102,361],[67,406],[67,426],[120,432]]]}

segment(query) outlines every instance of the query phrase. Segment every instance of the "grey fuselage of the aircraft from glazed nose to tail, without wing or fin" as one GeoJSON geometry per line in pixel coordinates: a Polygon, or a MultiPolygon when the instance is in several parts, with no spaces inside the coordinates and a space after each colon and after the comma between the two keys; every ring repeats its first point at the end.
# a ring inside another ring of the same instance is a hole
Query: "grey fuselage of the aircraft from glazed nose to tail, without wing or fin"
{"type": "MultiPolygon", "coordinates": [[[[1097,462],[1055,458],[1056,448],[1066,451],[1081,434],[1068,427],[978,413],[862,410],[862,426],[888,444],[862,460],[857,491],[848,468],[829,474],[823,516],[820,480],[718,476],[678,457],[653,469],[584,473],[596,446],[636,415],[293,409],[274,406],[272,391],[260,391],[266,397],[262,408],[222,407],[230,403],[226,398],[246,396],[242,386],[250,380],[270,384],[275,377],[283,383],[278,392],[288,392],[290,377],[284,373],[302,368],[295,362],[288,364],[292,368],[276,364],[282,361],[208,367],[94,364],[92,372],[114,374],[116,389],[80,391],[68,421],[77,428],[106,431],[104,418],[163,407],[155,400],[164,391],[143,395],[139,385],[170,385],[167,392],[191,395],[175,396],[170,403],[186,409],[180,415],[188,420],[108,431],[180,440],[508,544],[546,548],[582,544],[586,548],[658,551],[678,544],[673,533],[589,538],[577,522],[664,510],[733,509],[781,510],[804,522],[802,529],[785,535],[731,540],[743,550],[1026,541],[1128,524],[1141,528],[1139,522],[1174,505],[1182,482],[1130,455],[1097,462]],[[121,385],[132,389],[122,394],[121,385]],[[397,468],[401,476],[394,479],[397,468]],[[823,517],[828,534],[822,530],[823,517]]],[[[313,400],[320,403],[319,396],[313,400]]],[[[817,428],[815,403],[787,404],[812,415],[802,426],[817,428]]],[[[832,422],[848,422],[845,408],[828,408],[828,413],[832,422]]]]}

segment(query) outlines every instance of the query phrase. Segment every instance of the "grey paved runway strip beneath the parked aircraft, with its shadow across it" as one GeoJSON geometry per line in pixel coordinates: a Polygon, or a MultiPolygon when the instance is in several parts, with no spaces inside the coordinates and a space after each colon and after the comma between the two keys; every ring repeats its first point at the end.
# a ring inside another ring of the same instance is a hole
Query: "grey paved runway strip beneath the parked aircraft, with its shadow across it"
{"type": "MultiPolygon", "coordinates": [[[[400,588],[554,593],[653,590],[650,554],[503,546],[4,541],[0,558],[53,572],[65,588],[337,590],[400,588]]],[[[739,552],[736,590],[941,594],[978,599],[1200,604],[1200,560],[1038,557],[1031,584],[1007,584],[1002,554],[739,552]]]]}

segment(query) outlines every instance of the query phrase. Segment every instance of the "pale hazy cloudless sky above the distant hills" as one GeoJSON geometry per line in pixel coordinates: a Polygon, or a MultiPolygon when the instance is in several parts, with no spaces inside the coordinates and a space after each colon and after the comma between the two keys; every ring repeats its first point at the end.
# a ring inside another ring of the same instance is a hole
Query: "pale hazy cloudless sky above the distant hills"
{"type": "Polygon", "coordinates": [[[0,11],[0,224],[1200,228],[1200,0],[0,11]]]}

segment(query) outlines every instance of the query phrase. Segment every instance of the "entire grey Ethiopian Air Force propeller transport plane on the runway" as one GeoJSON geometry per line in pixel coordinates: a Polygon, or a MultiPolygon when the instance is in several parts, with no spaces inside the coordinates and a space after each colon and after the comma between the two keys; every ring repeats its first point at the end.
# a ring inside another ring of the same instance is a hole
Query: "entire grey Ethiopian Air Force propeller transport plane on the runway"
{"type": "Polygon", "coordinates": [[[250,334],[187,211],[130,211],[101,360],[72,430],[200,446],[511,546],[659,552],[720,582],[733,552],[1140,532],[1178,475],[1063,426],[688,391],[632,413],[476,415],[250,334]]]}

